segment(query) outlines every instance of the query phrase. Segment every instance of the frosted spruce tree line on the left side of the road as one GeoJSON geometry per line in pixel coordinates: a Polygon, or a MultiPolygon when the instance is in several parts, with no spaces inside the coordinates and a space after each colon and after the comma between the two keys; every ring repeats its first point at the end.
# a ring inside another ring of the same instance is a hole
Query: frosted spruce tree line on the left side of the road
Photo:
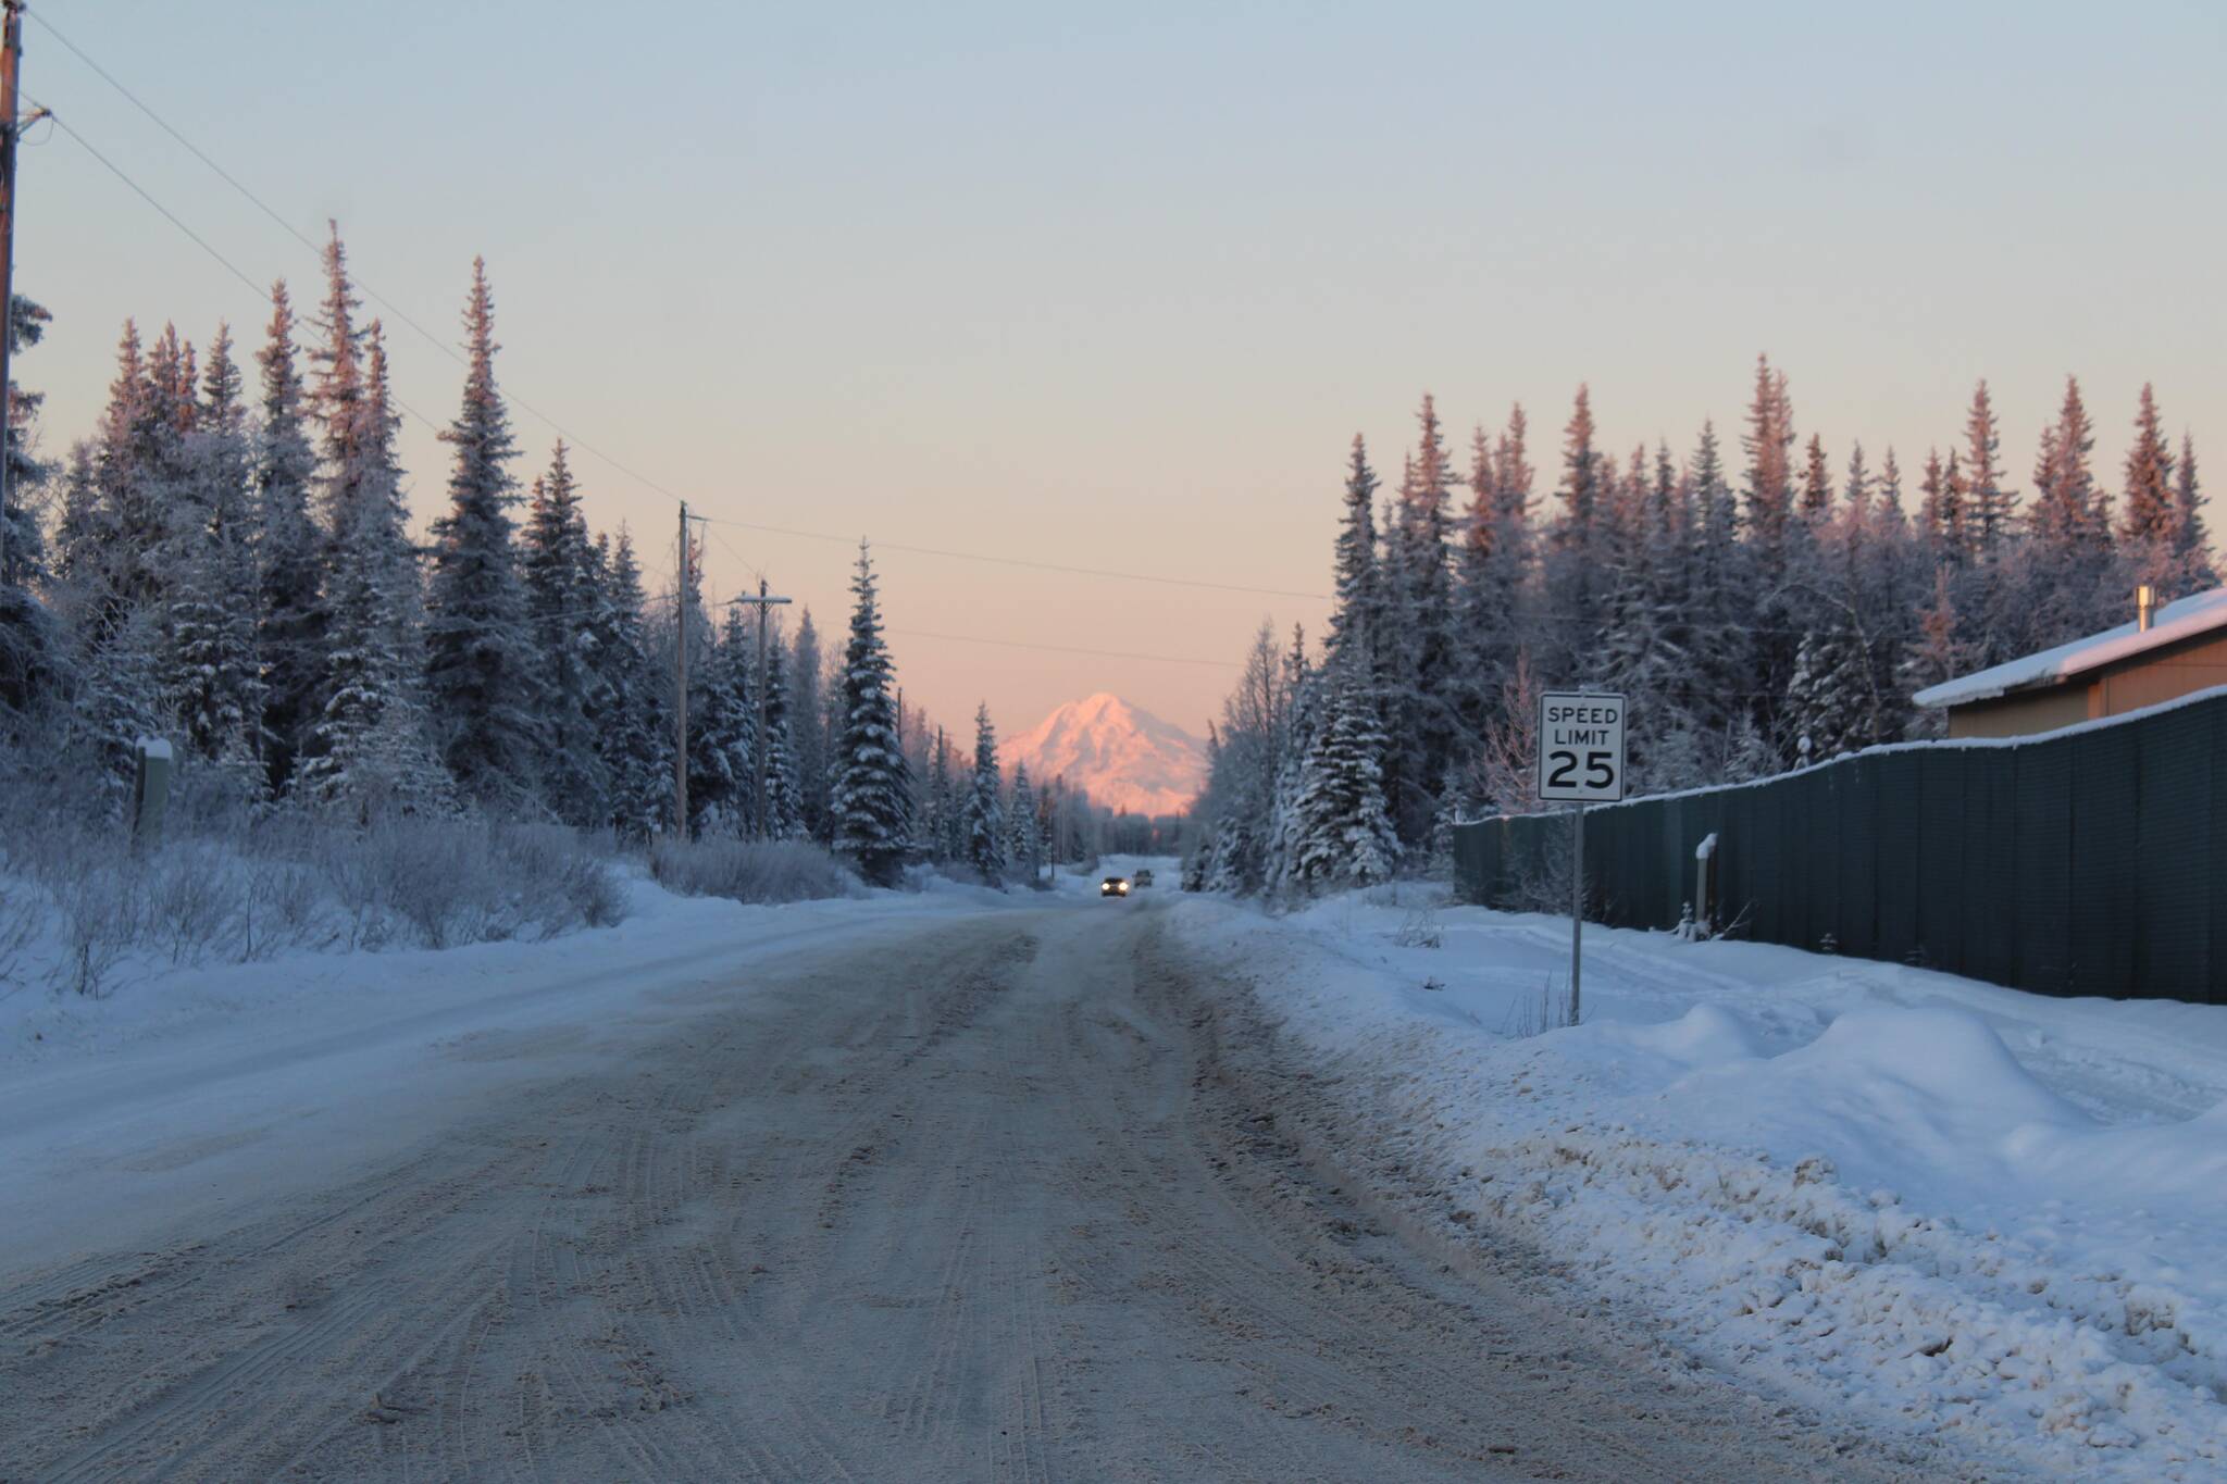
{"type": "MultiPolygon", "coordinates": [[[[0,743],[20,781],[114,812],[136,743],[165,736],[203,799],[644,839],[673,828],[686,645],[690,834],[815,839],[884,883],[913,861],[1004,881],[1096,854],[1102,812],[1060,779],[1004,781],[987,712],[960,776],[906,712],[864,543],[826,654],[808,607],[793,632],[715,612],[693,541],[648,594],[632,536],[590,534],[561,441],[521,487],[483,263],[448,501],[412,538],[385,332],[339,229],[323,280],[307,323],[274,285],[247,367],[223,325],[196,347],[127,323],[98,427],[58,461],[38,456],[40,396],[11,387],[0,743]]],[[[18,298],[18,349],[47,323],[18,298]]]]}

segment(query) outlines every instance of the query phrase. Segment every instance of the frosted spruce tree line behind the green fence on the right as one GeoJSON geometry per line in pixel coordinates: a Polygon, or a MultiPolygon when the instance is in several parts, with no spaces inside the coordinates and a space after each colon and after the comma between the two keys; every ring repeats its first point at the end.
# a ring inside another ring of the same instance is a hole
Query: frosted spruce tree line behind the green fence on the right
{"type": "Polygon", "coordinates": [[[1911,701],[1926,685],[2122,623],[2138,583],[2218,585],[2194,441],[2174,447],[2147,385],[2116,494],[2071,376],[2029,489],[1984,380],[1906,487],[1895,449],[1835,461],[1802,438],[1768,356],[1737,469],[1713,423],[1684,454],[1610,454],[1586,387],[1550,498],[1521,405],[1472,432],[1468,469],[1430,396],[1416,425],[1387,492],[1354,436],[1327,632],[1254,641],[1211,734],[1191,886],[1287,894],[1443,863],[1456,819],[1537,808],[1546,687],[1630,699],[1635,788],[1735,783],[1937,736],[1911,701]]]}

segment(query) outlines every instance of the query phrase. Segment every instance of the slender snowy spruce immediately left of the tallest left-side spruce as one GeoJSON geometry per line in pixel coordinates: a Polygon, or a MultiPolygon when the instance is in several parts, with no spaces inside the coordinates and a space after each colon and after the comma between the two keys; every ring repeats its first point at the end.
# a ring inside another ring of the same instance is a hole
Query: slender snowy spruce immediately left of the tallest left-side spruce
{"type": "Polygon", "coordinates": [[[310,487],[316,452],[303,425],[294,363],[294,307],[285,280],[272,285],[272,320],[256,352],[263,425],[254,436],[256,661],[263,687],[265,785],[283,794],[316,721],[327,667],[323,565],[310,487]]]}

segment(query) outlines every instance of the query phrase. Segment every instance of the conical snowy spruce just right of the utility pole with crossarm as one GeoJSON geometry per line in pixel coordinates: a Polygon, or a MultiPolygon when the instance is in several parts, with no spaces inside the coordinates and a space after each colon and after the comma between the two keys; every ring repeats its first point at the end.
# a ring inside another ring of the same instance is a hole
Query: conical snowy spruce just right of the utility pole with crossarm
{"type": "Polygon", "coordinates": [[[875,886],[893,886],[913,848],[913,783],[904,770],[895,670],[882,641],[882,607],[864,541],[857,543],[851,594],[855,605],[851,643],[844,647],[842,732],[828,810],[835,819],[835,850],[851,857],[875,886]]]}

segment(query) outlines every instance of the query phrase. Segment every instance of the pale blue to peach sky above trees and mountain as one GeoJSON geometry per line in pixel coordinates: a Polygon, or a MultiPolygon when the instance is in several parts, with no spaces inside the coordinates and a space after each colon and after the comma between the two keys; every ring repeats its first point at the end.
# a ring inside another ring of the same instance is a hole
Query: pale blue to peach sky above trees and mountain
{"type": "MultiPolygon", "coordinates": [[[[2024,485],[2076,372],[2113,487],[2142,380],[2227,481],[2216,2],[33,0],[24,93],[305,303],[314,258],[40,16],[421,325],[485,254],[503,387],[737,521],[1325,592],[1345,445],[1396,478],[1423,389],[1463,447],[1523,400],[1550,478],[1579,380],[1608,447],[1686,452],[1757,352],[1835,469],[1862,438],[1915,472],[1986,376],[2024,485]]],[[[267,309],[29,138],[16,285],[56,323],[18,380],[58,454],[125,316],[252,349],[267,309]]],[[[459,369],[390,332],[448,423],[459,369]]],[[[530,478],[555,434],[512,412],[530,478]]],[[[425,518],[443,449],[403,454],[425,518]]],[[[575,467],[670,581],[673,503],[575,467]]],[[[726,527],[708,574],[840,630],[848,561],[726,527]]],[[[909,699],[1004,732],[1096,690],[1203,732],[1254,625],[1325,607],[880,567],[909,699]]]]}

